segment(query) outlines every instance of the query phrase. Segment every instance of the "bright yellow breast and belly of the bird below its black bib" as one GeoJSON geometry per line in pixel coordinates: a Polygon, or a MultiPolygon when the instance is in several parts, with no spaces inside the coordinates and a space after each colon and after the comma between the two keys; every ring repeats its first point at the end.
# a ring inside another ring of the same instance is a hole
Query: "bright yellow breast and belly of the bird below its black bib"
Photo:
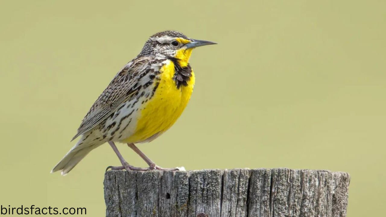
{"type": "Polygon", "coordinates": [[[144,142],[151,140],[154,135],[159,136],[176,122],[188,104],[195,83],[193,71],[188,85],[178,89],[173,80],[174,63],[168,60],[160,71],[161,80],[154,96],[138,110],[140,114],[135,133],[124,142],[144,142]]]}

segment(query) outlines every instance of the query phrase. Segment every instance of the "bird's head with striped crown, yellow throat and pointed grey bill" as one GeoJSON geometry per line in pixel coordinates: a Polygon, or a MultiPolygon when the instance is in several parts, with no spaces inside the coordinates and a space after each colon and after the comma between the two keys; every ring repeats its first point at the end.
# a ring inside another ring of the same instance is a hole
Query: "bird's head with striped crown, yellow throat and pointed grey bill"
{"type": "Polygon", "coordinates": [[[146,41],[139,56],[176,58],[181,66],[186,66],[195,47],[209,44],[216,43],[191,39],[177,31],[158,32],[146,41]]]}

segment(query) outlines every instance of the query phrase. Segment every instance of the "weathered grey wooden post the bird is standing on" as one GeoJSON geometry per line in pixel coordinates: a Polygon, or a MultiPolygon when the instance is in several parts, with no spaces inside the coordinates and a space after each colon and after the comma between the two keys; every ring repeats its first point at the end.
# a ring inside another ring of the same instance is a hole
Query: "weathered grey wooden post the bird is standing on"
{"type": "Polygon", "coordinates": [[[345,217],[349,182],[344,172],[286,168],[107,171],[106,216],[345,217]]]}

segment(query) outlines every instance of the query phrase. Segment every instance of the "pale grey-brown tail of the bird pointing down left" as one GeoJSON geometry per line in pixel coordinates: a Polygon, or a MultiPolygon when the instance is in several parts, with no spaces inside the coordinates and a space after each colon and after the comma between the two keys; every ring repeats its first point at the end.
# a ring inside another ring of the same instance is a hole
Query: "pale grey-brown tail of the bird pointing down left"
{"type": "Polygon", "coordinates": [[[80,143],[83,139],[80,139],[78,143],[66,154],[63,159],[59,161],[56,166],[51,170],[51,173],[56,171],[62,171],[61,175],[66,175],[71,171],[76,164],[78,164],[90,151],[99,146],[99,144],[85,144],[80,143]]]}

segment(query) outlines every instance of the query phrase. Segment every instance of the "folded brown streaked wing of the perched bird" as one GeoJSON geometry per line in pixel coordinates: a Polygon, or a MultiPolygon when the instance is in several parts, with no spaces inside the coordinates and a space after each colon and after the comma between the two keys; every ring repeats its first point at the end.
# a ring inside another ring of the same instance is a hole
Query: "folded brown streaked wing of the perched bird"
{"type": "Polygon", "coordinates": [[[71,141],[105,120],[122,103],[134,96],[137,92],[138,75],[145,72],[148,63],[149,58],[147,57],[133,59],[115,75],[107,88],[91,106],[78,128],[78,132],[71,141]]]}

